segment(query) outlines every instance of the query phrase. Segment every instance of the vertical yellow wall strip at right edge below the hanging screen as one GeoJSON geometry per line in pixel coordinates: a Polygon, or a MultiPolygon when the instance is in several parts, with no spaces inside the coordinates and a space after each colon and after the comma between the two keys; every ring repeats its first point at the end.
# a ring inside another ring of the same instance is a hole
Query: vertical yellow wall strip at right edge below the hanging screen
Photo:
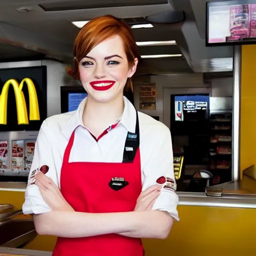
{"type": "Polygon", "coordinates": [[[241,49],[240,170],[256,164],[256,45],[241,49]]]}

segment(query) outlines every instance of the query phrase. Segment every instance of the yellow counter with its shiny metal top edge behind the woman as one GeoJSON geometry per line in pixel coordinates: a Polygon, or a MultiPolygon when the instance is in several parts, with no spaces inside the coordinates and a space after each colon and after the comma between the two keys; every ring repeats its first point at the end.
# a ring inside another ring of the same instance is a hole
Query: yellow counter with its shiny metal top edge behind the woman
{"type": "MultiPolygon", "coordinates": [[[[209,196],[206,193],[177,192],[180,221],[175,221],[169,236],[164,240],[143,239],[145,256],[164,256],[170,251],[174,251],[177,256],[202,256],[205,253],[207,256],[254,255],[256,185],[252,178],[247,180],[244,177],[244,181],[247,184],[221,185],[222,193],[214,192],[213,195],[216,196],[209,196]],[[248,193],[242,194],[242,191],[246,191],[246,187],[249,187],[248,193]],[[228,194],[227,191],[231,193],[228,194]]],[[[2,190],[0,203],[9,203],[20,209],[24,201],[25,186],[25,183],[0,182],[0,190],[2,190]]],[[[0,255],[14,253],[50,256],[55,242],[54,236],[37,235],[25,245],[24,248],[28,250],[6,251],[0,248],[0,255]]]]}

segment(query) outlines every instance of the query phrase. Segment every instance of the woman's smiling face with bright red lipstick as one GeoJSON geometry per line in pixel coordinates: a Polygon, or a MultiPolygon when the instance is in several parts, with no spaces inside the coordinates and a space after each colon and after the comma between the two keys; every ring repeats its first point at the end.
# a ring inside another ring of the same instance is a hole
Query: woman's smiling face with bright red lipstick
{"type": "Polygon", "coordinates": [[[79,62],[80,80],[88,98],[107,102],[122,97],[127,77],[136,70],[137,59],[132,67],[123,48],[119,35],[97,44],[79,62]]]}

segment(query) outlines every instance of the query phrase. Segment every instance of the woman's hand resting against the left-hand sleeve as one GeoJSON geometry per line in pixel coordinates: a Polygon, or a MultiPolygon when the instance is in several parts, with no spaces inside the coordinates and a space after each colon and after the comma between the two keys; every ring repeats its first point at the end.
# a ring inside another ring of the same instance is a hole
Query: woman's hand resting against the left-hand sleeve
{"type": "Polygon", "coordinates": [[[35,175],[35,184],[39,187],[43,200],[52,210],[74,211],[53,180],[41,171],[35,175]]]}

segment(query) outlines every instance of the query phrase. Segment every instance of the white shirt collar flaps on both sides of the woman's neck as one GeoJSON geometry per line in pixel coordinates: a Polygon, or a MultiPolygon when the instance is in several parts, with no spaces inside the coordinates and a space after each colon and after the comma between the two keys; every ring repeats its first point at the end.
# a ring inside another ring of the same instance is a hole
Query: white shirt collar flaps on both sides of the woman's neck
{"type": "MultiPolygon", "coordinates": [[[[74,129],[78,126],[84,126],[82,123],[82,113],[85,106],[87,98],[84,98],[77,109],[71,113],[69,120],[66,125],[62,128],[62,133],[69,138],[74,131],[74,129]]],[[[136,124],[136,110],[132,103],[123,96],[124,109],[120,121],[118,123],[123,125],[129,132],[135,132],[135,124],[136,124]]]]}

